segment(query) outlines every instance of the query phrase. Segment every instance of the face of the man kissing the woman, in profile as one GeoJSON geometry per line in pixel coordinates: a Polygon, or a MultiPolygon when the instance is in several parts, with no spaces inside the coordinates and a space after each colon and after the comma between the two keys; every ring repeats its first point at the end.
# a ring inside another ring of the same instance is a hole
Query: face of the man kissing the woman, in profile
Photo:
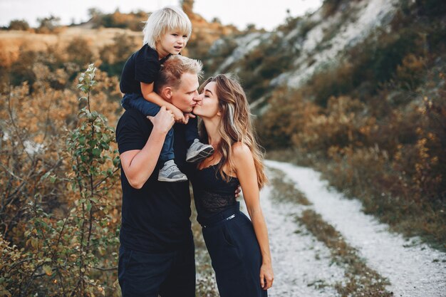
{"type": "Polygon", "coordinates": [[[197,74],[183,73],[181,75],[181,83],[177,89],[172,88],[171,102],[183,113],[192,112],[198,95],[198,77],[197,74]]]}

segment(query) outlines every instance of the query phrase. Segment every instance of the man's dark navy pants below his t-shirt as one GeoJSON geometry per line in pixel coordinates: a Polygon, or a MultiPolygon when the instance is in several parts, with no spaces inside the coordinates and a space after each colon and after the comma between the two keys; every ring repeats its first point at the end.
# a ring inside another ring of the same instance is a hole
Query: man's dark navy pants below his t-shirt
{"type": "Polygon", "coordinates": [[[123,297],[195,297],[195,246],[149,254],[120,246],[118,280],[123,297]]]}

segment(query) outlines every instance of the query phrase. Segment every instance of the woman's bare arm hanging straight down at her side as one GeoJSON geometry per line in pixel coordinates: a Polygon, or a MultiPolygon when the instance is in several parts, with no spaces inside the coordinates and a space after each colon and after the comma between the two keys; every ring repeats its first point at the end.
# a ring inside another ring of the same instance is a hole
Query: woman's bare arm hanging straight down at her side
{"type": "Polygon", "coordinates": [[[244,201],[247,204],[249,217],[254,226],[257,241],[259,241],[262,264],[260,268],[260,284],[264,290],[271,288],[274,281],[274,273],[271,264],[271,252],[269,251],[268,230],[264,215],[261,212],[259,200],[259,186],[257,185],[256,167],[251,150],[247,145],[237,142],[232,146],[234,165],[242,186],[244,201]]]}

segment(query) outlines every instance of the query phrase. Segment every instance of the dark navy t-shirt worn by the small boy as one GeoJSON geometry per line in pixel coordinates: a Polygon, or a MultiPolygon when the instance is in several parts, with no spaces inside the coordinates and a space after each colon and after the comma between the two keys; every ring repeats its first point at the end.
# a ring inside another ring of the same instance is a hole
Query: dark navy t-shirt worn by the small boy
{"type": "Polygon", "coordinates": [[[140,83],[153,83],[160,72],[161,64],[169,56],[170,54],[160,60],[157,51],[147,43],[142,46],[125,62],[119,84],[121,93],[142,95],[140,83]]]}

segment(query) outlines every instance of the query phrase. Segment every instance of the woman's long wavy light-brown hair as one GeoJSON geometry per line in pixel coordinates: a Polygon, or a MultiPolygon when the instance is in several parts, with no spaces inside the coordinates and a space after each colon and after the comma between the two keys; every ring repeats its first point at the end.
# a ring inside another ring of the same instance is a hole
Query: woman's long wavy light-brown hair
{"type": "MultiPolygon", "coordinates": [[[[261,147],[256,141],[251,124],[247,95],[245,95],[237,78],[227,74],[219,74],[208,78],[199,87],[199,93],[202,92],[205,85],[211,82],[216,83],[216,95],[219,100],[219,110],[222,113],[222,121],[219,125],[219,135],[222,139],[217,146],[217,152],[222,156],[222,160],[217,165],[219,173],[225,180],[229,180],[229,177],[223,174],[223,166],[229,164],[229,169],[234,170],[234,161],[231,157],[232,145],[236,142],[242,142],[251,150],[256,167],[257,185],[261,189],[268,179],[264,172],[263,152],[261,152],[261,147]]],[[[204,123],[200,123],[199,132],[202,139],[207,141],[204,123]]]]}

